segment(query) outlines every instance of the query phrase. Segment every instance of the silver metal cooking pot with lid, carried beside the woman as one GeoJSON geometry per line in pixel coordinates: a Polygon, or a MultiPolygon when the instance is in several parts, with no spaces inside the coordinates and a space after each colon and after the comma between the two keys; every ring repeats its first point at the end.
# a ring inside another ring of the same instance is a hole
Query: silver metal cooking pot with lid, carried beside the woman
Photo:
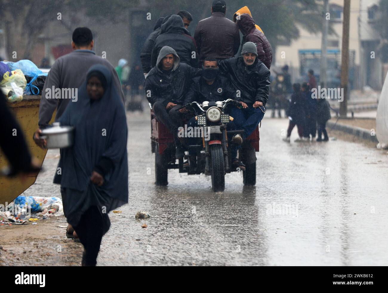
{"type": "Polygon", "coordinates": [[[73,145],[73,126],[61,126],[61,123],[54,122],[52,127],[42,130],[41,139],[47,141],[47,149],[58,149],[73,145]]]}

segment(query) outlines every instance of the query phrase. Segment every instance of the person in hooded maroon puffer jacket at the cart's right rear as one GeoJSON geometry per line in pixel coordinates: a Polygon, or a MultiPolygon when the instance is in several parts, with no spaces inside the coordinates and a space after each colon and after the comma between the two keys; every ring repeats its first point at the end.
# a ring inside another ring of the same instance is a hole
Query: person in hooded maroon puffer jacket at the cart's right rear
{"type": "Polygon", "coordinates": [[[272,49],[267,38],[262,31],[256,29],[255,21],[249,14],[241,14],[240,19],[237,20],[237,27],[242,33],[241,48],[246,42],[256,44],[257,58],[267,66],[268,69],[272,63],[272,49]]]}

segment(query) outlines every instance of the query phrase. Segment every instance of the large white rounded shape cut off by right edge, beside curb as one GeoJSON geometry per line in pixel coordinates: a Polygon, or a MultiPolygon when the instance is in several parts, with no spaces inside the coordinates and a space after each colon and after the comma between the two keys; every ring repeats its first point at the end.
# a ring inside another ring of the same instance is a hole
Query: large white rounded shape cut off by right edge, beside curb
{"type": "Polygon", "coordinates": [[[378,148],[388,148],[388,74],[385,77],[377,106],[376,136],[379,141],[378,148]]]}

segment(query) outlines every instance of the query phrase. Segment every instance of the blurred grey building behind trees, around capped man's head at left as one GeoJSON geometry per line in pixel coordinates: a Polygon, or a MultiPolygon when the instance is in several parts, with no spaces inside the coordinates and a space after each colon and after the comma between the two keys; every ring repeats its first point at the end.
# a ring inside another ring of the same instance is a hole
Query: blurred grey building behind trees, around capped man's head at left
{"type": "Polygon", "coordinates": [[[39,65],[42,58],[48,57],[50,64],[54,63],[57,58],[72,51],[73,30],[79,26],[87,26],[93,33],[93,50],[96,55],[106,58],[114,67],[121,58],[128,60],[130,65],[136,62],[140,64],[140,50],[155,22],[147,20],[147,9],[144,5],[140,3],[128,9],[117,22],[109,19],[101,21],[83,12],[65,12],[66,24],[53,22],[38,36],[31,60],[39,65]]]}

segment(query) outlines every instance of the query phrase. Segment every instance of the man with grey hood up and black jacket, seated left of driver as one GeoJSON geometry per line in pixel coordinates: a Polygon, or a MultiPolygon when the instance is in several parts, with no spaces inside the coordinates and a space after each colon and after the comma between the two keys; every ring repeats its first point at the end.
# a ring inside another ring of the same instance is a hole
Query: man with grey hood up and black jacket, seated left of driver
{"type": "Polygon", "coordinates": [[[180,159],[184,156],[184,148],[178,140],[182,120],[177,109],[182,106],[191,79],[201,75],[202,70],[181,63],[177,52],[169,46],[161,48],[156,64],[145,79],[145,96],[156,118],[173,134],[175,158],[180,159]]]}

